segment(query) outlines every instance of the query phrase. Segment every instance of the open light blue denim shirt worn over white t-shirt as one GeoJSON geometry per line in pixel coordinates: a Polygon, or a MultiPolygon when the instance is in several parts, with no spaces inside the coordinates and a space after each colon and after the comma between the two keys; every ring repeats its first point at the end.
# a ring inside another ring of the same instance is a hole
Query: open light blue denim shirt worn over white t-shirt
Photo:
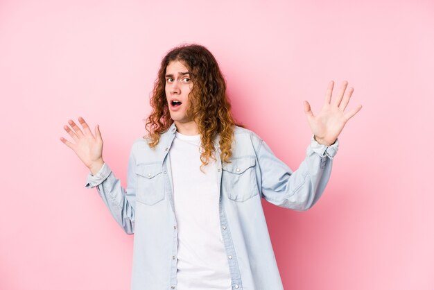
{"type": "MultiPolygon", "coordinates": [[[[126,190],[107,164],[87,176],[86,187],[96,187],[117,223],[134,234],[132,290],[177,289],[177,221],[168,158],[175,132],[173,123],[155,148],[144,138],[134,142],[126,190]]],[[[220,160],[218,138],[215,149],[220,230],[232,289],[283,289],[261,198],[292,210],[312,207],[329,180],[338,141],[324,146],[312,138],[294,172],[245,128],[234,130],[230,163],[220,160]]]]}

